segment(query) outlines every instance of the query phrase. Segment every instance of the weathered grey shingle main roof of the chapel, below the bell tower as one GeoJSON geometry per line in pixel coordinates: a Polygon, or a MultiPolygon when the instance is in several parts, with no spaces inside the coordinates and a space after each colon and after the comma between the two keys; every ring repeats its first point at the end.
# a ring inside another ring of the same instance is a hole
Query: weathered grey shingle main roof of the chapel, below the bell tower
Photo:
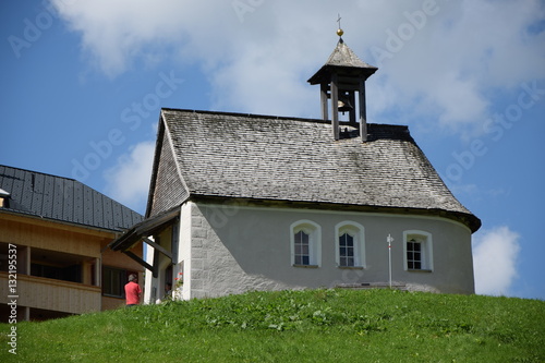
{"type": "Polygon", "coordinates": [[[164,109],[161,120],[189,197],[410,208],[461,217],[472,230],[481,225],[407,126],[368,124],[362,143],[334,141],[323,120],[177,109],[164,109]]]}

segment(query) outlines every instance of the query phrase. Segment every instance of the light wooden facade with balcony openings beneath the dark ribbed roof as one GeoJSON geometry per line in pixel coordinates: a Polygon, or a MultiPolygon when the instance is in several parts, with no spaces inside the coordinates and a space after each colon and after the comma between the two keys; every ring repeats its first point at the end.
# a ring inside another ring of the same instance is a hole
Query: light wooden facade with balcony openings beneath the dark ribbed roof
{"type": "MultiPolygon", "coordinates": [[[[16,246],[17,320],[122,306],[122,295],[105,293],[104,270],[114,269],[121,276],[138,273],[142,281],[143,268],[128,256],[106,249],[117,235],[111,230],[0,213],[1,320],[8,322],[10,316],[10,244],[16,246]]],[[[133,252],[142,256],[142,245],[133,252]]]]}

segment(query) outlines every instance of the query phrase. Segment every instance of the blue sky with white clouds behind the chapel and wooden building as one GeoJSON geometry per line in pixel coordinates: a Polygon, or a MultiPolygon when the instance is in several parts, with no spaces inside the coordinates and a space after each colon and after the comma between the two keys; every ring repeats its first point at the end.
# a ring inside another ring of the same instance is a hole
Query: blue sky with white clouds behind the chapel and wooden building
{"type": "Polygon", "coordinates": [[[543,1],[2,1],[0,164],[144,213],[160,108],[319,117],[338,13],[370,122],[482,219],[477,292],[545,299],[543,1]]]}

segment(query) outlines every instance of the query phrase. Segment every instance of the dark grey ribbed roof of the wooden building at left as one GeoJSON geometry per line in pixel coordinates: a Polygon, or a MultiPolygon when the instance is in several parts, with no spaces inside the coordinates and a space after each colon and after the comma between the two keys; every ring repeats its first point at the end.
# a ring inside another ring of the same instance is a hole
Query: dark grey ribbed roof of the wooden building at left
{"type": "Polygon", "coordinates": [[[10,193],[0,210],[106,230],[123,230],[143,216],[73,179],[0,166],[0,189],[10,193]]]}

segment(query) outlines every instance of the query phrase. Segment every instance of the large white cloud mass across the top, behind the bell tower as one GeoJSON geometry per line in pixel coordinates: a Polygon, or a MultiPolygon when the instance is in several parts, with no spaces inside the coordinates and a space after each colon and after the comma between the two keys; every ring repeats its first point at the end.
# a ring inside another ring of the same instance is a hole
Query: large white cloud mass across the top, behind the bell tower
{"type": "Polygon", "coordinates": [[[347,44],[380,68],[367,88],[374,122],[393,122],[377,119],[399,107],[409,122],[468,134],[493,112],[495,89],[545,77],[540,0],[52,1],[106,74],[137,59],[198,62],[210,104],[227,111],[318,116],[305,81],[335,47],[338,12],[347,44]]]}

